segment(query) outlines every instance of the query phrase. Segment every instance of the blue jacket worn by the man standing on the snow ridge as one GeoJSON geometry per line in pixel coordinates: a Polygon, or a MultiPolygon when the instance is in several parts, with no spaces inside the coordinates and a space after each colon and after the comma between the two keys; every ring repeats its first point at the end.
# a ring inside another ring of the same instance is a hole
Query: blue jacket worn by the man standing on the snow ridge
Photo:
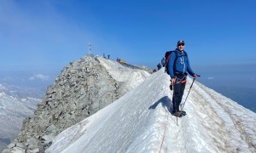
{"type": "Polygon", "coordinates": [[[173,66],[175,66],[174,70],[175,72],[178,73],[186,73],[189,72],[189,75],[194,76],[194,72],[192,71],[190,65],[189,65],[189,57],[188,54],[185,56],[184,51],[179,51],[177,48],[175,50],[177,52],[177,60],[176,64],[174,65],[174,60],[176,59],[176,54],[175,52],[172,52],[170,55],[169,59],[169,72],[170,72],[170,77],[174,78],[174,71],[173,71],[173,66]]]}

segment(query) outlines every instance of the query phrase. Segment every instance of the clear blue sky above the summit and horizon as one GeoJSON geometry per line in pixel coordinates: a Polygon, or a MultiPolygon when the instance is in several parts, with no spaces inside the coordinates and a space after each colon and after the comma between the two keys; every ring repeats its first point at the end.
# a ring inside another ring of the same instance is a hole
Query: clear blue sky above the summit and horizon
{"type": "Polygon", "coordinates": [[[254,0],[1,0],[0,71],[34,71],[29,78],[45,79],[46,71],[59,73],[87,54],[89,42],[95,55],[110,54],[110,59],[156,68],[165,52],[182,39],[192,68],[209,73],[209,80],[230,71],[254,73],[255,4],[254,0]]]}

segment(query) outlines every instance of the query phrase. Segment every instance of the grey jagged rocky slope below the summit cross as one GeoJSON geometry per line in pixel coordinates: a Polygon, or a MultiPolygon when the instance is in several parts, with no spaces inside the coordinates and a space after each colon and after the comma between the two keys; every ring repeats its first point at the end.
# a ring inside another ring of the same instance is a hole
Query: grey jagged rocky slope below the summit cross
{"type": "Polygon", "coordinates": [[[119,92],[119,84],[95,58],[70,63],[48,88],[34,115],[23,121],[18,138],[3,152],[44,152],[58,133],[119,99],[124,94],[124,90],[119,92]]]}

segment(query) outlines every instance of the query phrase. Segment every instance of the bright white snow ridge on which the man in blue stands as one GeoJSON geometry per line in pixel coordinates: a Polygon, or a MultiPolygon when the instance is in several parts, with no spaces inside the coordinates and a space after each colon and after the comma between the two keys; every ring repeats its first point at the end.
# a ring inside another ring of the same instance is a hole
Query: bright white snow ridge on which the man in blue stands
{"type": "Polygon", "coordinates": [[[169,80],[163,69],[154,73],[60,133],[46,152],[255,152],[253,111],[195,82],[184,106],[188,115],[176,118],[168,111],[169,80]]]}

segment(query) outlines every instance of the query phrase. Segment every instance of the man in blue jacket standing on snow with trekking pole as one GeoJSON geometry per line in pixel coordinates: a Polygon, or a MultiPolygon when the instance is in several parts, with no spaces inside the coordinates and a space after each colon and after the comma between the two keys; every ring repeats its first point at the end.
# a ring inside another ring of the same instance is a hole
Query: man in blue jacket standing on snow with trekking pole
{"type": "Polygon", "coordinates": [[[186,86],[187,75],[194,78],[199,77],[195,74],[190,65],[188,54],[183,50],[185,48],[184,41],[177,42],[177,48],[170,54],[168,61],[168,69],[171,77],[171,88],[173,86],[172,96],[172,114],[175,116],[183,116],[183,111],[179,110],[179,105],[183,99],[183,92],[186,86]]]}

